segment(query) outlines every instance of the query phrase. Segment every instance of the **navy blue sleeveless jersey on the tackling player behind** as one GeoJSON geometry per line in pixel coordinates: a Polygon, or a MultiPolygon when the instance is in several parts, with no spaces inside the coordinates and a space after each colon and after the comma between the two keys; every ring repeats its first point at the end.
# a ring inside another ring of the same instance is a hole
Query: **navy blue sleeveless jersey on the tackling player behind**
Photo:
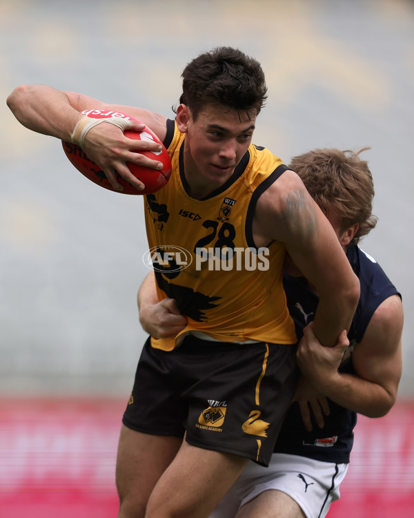
{"type": "MultiPolygon", "coordinates": [[[[344,354],[339,370],[353,373],[352,351],[365,333],[366,327],[377,307],[392,295],[398,294],[378,263],[367,253],[354,246],[346,256],[359,278],[361,294],[351,328],[348,333],[350,345],[344,354]]],[[[302,329],[310,323],[317,308],[318,298],[308,289],[306,280],[285,274],[284,289],[288,299],[290,315],[295,321],[297,337],[302,338],[302,329]]],[[[324,416],[325,426],[319,428],[315,420],[313,431],[307,432],[302,423],[298,403],[288,410],[284,425],[275,445],[275,452],[311,457],[319,461],[347,463],[353,446],[353,428],[357,414],[329,401],[331,413],[324,416]]]]}

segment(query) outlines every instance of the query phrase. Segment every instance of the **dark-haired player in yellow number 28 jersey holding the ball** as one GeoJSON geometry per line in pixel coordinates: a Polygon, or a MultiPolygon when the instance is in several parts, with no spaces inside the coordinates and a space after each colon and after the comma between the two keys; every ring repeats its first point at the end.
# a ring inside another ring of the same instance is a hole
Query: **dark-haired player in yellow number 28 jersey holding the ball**
{"type": "Polygon", "coordinates": [[[193,59],[183,77],[175,121],[48,86],[20,86],[8,97],[32,131],[79,143],[81,124],[83,150],[115,188],[114,171],[142,188],[126,162],[156,169],[157,162],[134,150],[157,145],[138,146],[112,124],[83,126],[82,112],[112,109],[146,124],[174,166],[168,184],[146,196],[148,241],[165,259],[172,258],[166,247],[195,239],[188,268],[168,262],[163,269],[155,261],[158,297],[179,295],[173,298],[188,329],[180,339],[149,338],[144,345],[119,440],[119,518],[207,517],[248,459],[268,464],[297,374],[282,289],[286,251],[319,295],[314,332],[322,345],[335,345],[348,329],[359,297],[335,232],[302,181],[251,143],[266,99],[259,63],[237,49],[216,48],[193,59]],[[242,269],[225,269],[237,249],[242,269]],[[252,269],[247,259],[263,250],[269,268],[252,269]],[[201,264],[201,257],[222,268],[201,264]]]}

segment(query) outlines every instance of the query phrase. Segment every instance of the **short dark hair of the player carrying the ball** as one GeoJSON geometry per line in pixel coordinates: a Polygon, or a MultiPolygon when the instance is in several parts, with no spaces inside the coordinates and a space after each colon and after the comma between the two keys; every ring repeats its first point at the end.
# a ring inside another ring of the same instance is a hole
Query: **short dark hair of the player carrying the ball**
{"type": "Polygon", "coordinates": [[[184,68],[180,104],[196,119],[207,104],[224,105],[257,115],[267,99],[264,72],[259,62],[231,47],[217,47],[199,55],[184,68]]]}

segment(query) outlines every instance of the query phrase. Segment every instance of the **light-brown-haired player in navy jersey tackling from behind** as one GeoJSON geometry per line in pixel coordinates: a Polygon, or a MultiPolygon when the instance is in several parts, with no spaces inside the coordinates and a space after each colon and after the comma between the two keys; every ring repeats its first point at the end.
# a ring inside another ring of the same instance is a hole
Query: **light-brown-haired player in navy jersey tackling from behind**
{"type": "MultiPolygon", "coordinates": [[[[353,445],[357,412],[378,417],[391,409],[401,376],[403,324],[400,294],[377,262],[358,247],[375,227],[368,164],[359,153],[315,150],[290,167],[331,221],[361,292],[348,340],[322,347],[312,332],[317,294],[290,261],[284,288],[302,338],[302,378],[268,468],[250,463],[210,518],[324,517],[339,498],[353,445]]],[[[173,300],[149,305],[150,282],[139,293],[141,323],[153,334],[181,325],[173,300]]],[[[152,288],[153,289],[153,288],[152,288]]]]}

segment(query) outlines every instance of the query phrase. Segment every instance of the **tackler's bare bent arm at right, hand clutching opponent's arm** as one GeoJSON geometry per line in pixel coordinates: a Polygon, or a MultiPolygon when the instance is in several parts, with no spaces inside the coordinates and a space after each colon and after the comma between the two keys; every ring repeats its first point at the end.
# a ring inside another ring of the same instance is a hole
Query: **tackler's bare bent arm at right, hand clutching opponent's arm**
{"type": "Polygon", "coordinates": [[[352,359],[356,374],[338,371],[344,349],[322,347],[310,325],[298,347],[299,368],[317,390],[338,405],[368,417],[384,416],[395,403],[400,383],[403,320],[400,297],[384,300],[364,338],[355,345],[352,359]]]}

